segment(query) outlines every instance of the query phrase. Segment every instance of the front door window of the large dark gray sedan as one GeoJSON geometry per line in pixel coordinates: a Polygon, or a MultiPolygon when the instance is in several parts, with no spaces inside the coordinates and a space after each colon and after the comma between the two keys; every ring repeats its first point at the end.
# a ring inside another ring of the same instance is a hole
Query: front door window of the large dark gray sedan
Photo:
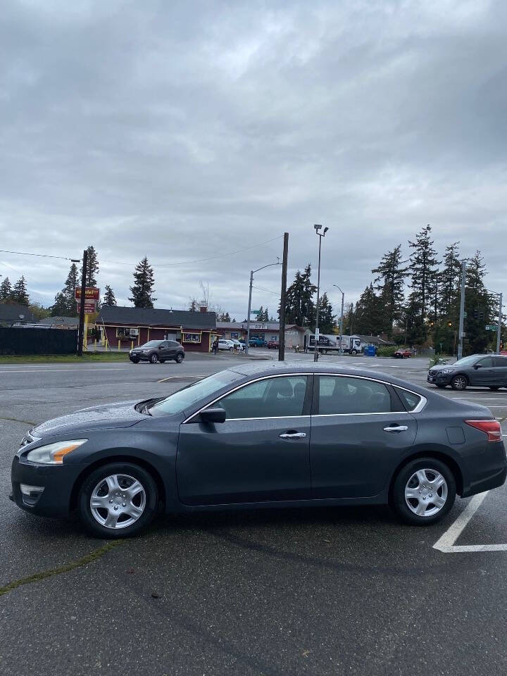
{"type": "Polygon", "coordinates": [[[284,418],[303,415],[306,375],[265,378],[227,394],[213,406],[234,418],[284,418]]]}

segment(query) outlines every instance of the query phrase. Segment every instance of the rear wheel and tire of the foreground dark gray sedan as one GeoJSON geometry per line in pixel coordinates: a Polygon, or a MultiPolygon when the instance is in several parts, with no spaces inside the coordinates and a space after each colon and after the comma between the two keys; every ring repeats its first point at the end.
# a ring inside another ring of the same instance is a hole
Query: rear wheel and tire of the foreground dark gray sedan
{"type": "Polygon", "coordinates": [[[401,520],[414,526],[429,526],[441,520],[449,513],[455,499],[456,479],[453,472],[436,458],[417,458],[407,463],[398,472],[392,485],[391,505],[394,511],[401,520]],[[423,481],[420,480],[421,474],[426,477],[423,481]],[[435,480],[443,480],[437,489],[431,487],[435,480]],[[421,491],[420,486],[424,487],[421,491]],[[435,496],[439,498],[438,505],[433,502],[435,496]],[[444,502],[440,504],[442,500],[444,502]]]}

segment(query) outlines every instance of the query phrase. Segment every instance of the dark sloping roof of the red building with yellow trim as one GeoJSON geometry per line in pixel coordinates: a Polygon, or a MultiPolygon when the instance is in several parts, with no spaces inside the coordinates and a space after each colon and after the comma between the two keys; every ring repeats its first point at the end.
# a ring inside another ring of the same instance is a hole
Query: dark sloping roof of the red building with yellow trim
{"type": "Polygon", "coordinates": [[[118,305],[103,305],[96,323],[121,324],[132,327],[163,326],[209,330],[216,328],[216,314],[214,312],[190,312],[189,310],[126,308],[118,305]]]}

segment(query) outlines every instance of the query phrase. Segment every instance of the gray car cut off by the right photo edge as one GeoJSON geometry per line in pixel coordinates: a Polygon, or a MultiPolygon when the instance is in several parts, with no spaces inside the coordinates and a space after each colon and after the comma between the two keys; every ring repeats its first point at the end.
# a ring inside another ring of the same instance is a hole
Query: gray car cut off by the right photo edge
{"type": "Polygon", "coordinates": [[[507,357],[472,354],[453,364],[435,365],[428,371],[427,381],[437,387],[451,385],[460,390],[469,385],[494,390],[507,387],[507,357]]]}

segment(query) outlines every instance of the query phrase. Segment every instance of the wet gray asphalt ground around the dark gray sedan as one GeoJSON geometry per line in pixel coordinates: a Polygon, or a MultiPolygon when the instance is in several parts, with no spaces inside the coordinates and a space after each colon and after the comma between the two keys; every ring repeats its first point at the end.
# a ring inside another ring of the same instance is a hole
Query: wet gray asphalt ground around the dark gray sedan
{"type": "MultiPolygon", "coordinates": [[[[210,513],[158,518],[114,546],[8,501],[11,458],[34,423],[169,394],[237,359],[0,365],[1,674],[506,673],[505,487],[458,499],[425,529],[388,508],[210,513]]],[[[417,384],[427,374],[427,359],[321,361],[417,384]]],[[[507,391],[444,394],[489,406],[507,433],[507,391]]]]}

